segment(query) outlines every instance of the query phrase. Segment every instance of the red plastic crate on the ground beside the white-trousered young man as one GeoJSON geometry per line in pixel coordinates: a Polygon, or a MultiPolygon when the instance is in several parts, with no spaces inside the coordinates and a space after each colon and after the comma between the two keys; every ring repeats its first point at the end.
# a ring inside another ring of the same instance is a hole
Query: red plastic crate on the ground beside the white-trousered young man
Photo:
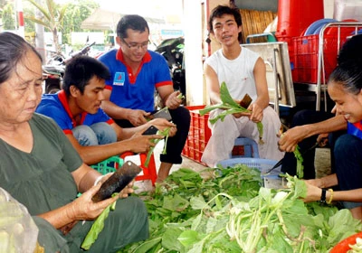
{"type": "MultiPolygon", "coordinates": [[[[191,124],[182,155],[197,163],[204,164],[201,162],[201,157],[211,136],[211,130],[207,126],[209,114],[201,116],[199,113],[199,110],[205,108],[205,105],[186,108],[190,110],[191,124]]],[[[234,146],[233,155],[243,155],[243,146],[234,146]]]]}

